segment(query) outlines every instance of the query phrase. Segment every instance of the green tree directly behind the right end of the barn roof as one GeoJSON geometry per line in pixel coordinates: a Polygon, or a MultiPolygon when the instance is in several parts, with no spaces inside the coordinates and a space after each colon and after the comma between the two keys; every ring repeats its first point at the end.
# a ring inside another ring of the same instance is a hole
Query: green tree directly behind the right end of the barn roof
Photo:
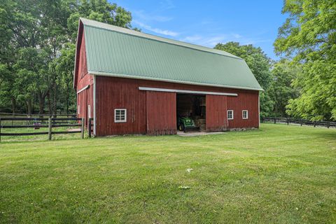
{"type": "Polygon", "coordinates": [[[260,116],[269,116],[272,113],[274,104],[267,93],[272,83],[271,59],[265,55],[261,48],[255,48],[251,44],[239,45],[237,42],[218,43],[215,49],[225,50],[245,60],[258,83],[265,90],[260,92],[260,116]]]}

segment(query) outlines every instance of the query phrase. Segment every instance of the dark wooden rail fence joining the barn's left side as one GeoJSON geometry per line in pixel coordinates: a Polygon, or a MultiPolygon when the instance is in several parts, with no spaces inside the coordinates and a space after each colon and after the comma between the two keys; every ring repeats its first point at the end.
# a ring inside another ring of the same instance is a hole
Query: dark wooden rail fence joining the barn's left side
{"type": "MultiPolygon", "coordinates": [[[[88,135],[91,137],[92,133],[92,118],[89,119],[88,123],[88,135]]],[[[52,134],[73,134],[80,133],[80,137],[84,138],[85,132],[85,119],[84,118],[0,118],[0,141],[1,136],[28,136],[28,135],[40,135],[48,134],[48,139],[52,139],[52,134]],[[14,125],[13,122],[20,121],[22,124],[14,125]],[[72,122],[72,123],[71,123],[72,122]],[[48,132],[12,132],[3,133],[1,129],[16,129],[16,128],[27,128],[31,127],[34,130],[38,130],[41,127],[48,127],[48,132]],[[52,131],[52,127],[79,127],[79,130],[69,130],[69,131],[52,131]]]]}

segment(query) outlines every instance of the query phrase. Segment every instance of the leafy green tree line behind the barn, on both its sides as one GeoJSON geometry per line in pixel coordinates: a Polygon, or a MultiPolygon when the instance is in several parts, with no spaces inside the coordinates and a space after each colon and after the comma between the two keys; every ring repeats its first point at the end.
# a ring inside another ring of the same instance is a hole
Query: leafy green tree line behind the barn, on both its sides
{"type": "MultiPolygon", "coordinates": [[[[218,43],[245,59],[264,89],[261,116],[336,120],[336,1],[286,0],[274,61],[261,48],[218,43]]],[[[0,111],[76,111],[75,43],[80,17],[132,29],[106,0],[0,0],[0,111]]]]}

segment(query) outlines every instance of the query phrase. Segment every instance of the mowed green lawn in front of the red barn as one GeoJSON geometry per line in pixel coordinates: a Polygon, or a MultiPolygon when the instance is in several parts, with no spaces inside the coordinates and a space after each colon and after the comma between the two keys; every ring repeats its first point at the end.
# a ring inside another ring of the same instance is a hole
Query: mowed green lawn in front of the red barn
{"type": "Polygon", "coordinates": [[[336,223],[335,129],[0,148],[1,223],[336,223]]]}

